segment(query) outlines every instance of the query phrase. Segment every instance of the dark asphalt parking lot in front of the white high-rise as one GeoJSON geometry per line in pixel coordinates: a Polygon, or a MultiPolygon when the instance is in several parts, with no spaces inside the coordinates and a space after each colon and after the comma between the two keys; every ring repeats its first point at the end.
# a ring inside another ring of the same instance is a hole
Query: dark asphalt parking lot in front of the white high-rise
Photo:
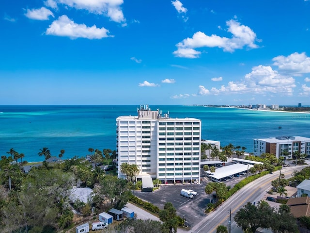
{"type": "MultiPolygon", "coordinates": [[[[162,184],[160,188],[154,192],[135,191],[135,195],[142,200],[153,203],[160,209],[164,208],[166,202],[171,202],[177,210],[177,214],[181,217],[184,215],[186,225],[191,228],[199,223],[202,220],[201,218],[206,216],[203,211],[210,202],[209,195],[206,195],[204,188],[207,183],[212,181],[205,177],[203,170],[201,174],[202,182],[200,184],[162,184]],[[182,189],[192,189],[198,194],[193,199],[188,199],[181,196],[182,189]]],[[[233,188],[236,183],[246,177],[246,175],[240,175],[239,177],[233,177],[232,179],[223,181],[223,183],[233,188]]]]}

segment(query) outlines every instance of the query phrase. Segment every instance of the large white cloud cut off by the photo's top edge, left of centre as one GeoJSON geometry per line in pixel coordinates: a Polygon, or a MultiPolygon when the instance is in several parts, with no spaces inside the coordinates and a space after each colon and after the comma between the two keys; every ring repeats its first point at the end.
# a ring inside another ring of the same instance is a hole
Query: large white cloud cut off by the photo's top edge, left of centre
{"type": "MultiPolygon", "coordinates": [[[[87,10],[90,13],[105,15],[112,21],[125,22],[121,5],[123,0],[55,0],[57,3],[65,4],[78,10],[87,10]]],[[[123,24],[124,26],[126,24],[123,24]]]]}

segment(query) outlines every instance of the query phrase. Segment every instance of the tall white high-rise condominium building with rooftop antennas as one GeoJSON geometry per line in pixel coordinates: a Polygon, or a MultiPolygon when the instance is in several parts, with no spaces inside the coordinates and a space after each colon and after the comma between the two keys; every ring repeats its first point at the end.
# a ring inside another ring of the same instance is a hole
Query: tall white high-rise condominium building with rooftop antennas
{"type": "Polygon", "coordinates": [[[160,110],[140,106],[138,116],[119,116],[117,126],[118,177],[121,164],[136,164],[142,177],[167,183],[200,182],[201,120],[170,118],[160,110]]]}

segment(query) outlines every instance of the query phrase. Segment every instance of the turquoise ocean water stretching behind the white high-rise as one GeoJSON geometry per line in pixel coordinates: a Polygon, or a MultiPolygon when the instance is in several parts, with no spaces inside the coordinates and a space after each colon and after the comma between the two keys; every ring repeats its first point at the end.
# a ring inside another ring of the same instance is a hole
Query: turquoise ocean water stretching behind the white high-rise
{"type": "MultiPolygon", "coordinates": [[[[85,157],[88,149],[116,150],[118,116],[137,116],[139,105],[0,106],[0,156],[14,148],[28,162],[42,161],[47,147],[52,156],[85,157]]],[[[203,106],[156,106],[171,117],[202,120],[202,139],[232,143],[253,151],[253,138],[282,135],[310,137],[310,114],[253,111],[203,106]],[[279,127],[282,127],[279,129],[279,127]]]]}

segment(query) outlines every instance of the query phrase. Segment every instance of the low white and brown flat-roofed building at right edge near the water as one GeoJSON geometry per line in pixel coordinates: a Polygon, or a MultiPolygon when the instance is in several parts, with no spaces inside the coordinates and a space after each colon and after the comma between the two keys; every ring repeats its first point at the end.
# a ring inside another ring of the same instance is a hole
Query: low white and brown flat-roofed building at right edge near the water
{"type": "Polygon", "coordinates": [[[301,136],[281,136],[253,139],[254,140],[254,155],[260,156],[263,153],[276,155],[277,158],[282,155],[282,152],[288,152],[286,159],[292,159],[294,152],[310,155],[310,138],[301,136]]]}

